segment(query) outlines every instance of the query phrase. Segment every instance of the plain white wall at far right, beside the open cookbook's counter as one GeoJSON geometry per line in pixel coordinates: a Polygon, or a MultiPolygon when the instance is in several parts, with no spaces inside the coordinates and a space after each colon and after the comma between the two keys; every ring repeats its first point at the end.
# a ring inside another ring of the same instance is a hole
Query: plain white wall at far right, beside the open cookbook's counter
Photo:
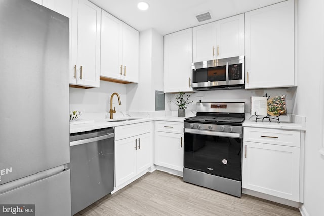
{"type": "Polygon", "coordinates": [[[324,215],[323,147],[324,1],[299,0],[298,88],[294,113],[306,116],[304,207],[310,216],[324,215]]]}

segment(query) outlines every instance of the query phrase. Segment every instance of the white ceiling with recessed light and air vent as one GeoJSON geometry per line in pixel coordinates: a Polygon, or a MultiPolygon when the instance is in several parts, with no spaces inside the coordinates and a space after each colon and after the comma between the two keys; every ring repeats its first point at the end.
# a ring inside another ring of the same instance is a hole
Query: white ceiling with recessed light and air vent
{"type": "Polygon", "coordinates": [[[137,9],[141,0],[91,0],[138,31],[153,28],[162,35],[261,8],[282,0],[143,0],[147,11],[137,9]],[[198,22],[196,15],[210,12],[212,19],[198,22]]]}

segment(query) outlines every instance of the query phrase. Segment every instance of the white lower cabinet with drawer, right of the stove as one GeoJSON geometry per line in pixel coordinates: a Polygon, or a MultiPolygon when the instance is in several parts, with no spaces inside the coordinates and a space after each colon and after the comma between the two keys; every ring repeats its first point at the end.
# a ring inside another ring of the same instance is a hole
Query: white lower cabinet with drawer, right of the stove
{"type": "Polygon", "coordinates": [[[296,137],[300,132],[275,133],[280,131],[244,128],[242,187],[299,202],[300,140],[298,143],[286,142],[287,145],[280,143],[289,134],[296,137]],[[263,141],[251,142],[256,137],[263,141]]]}

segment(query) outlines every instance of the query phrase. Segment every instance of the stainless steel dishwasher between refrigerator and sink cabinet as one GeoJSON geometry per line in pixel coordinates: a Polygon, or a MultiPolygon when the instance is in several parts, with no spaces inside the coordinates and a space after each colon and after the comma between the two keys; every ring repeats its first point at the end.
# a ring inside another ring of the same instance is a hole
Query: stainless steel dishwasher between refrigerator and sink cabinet
{"type": "Polygon", "coordinates": [[[114,128],[70,135],[72,215],[114,187],[114,128]]]}

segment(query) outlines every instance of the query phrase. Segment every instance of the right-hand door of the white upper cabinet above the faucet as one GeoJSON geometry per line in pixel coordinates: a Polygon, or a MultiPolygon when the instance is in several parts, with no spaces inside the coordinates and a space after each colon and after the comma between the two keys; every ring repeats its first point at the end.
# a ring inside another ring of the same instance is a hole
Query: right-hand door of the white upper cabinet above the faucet
{"type": "Polygon", "coordinates": [[[129,82],[138,82],[139,34],[123,23],[123,76],[129,82]]]}

